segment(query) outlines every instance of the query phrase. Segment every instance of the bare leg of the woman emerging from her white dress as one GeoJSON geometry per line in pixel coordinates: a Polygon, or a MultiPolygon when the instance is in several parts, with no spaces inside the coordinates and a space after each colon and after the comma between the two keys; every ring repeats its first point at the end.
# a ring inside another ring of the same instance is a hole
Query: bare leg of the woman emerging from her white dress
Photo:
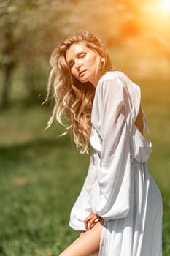
{"type": "Polygon", "coordinates": [[[83,233],[59,256],[98,256],[102,223],[97,222],[91,229],[83,233]]]}

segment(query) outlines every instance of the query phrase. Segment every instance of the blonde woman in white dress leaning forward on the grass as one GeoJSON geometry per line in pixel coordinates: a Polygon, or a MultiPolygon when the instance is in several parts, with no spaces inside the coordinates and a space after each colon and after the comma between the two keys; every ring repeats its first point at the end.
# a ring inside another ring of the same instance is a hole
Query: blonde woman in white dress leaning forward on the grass
{"type": "Polygon", "coordinates": [[[112,69],[104,44],[88,32],[61,42],[50,63],[49,125],[69,117],[77,148],[92,148],[69,223],[82,234],[61,256],[161,256],[162,202],[147,170],[151,142],[139,86],[112,69]]]}

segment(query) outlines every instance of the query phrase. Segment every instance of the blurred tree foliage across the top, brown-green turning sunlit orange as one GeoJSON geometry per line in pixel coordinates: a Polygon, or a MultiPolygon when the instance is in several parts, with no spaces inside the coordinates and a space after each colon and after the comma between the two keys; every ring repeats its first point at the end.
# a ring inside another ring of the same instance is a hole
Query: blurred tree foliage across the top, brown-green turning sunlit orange
{"type": "Polygon", "coordinates": [[[167,19],[162,23],[152,22],[153,14],[150,18],[150,11],[144,9],[144,4],[148,3],[142,0],[0,0],[3,76],[0,104],[5,106],[9,102],[10,80],[18,65],[26,70],[24,83],[28,93],[34,96],[35,87],[40,86],[36,84],[42,83],[41,72],[45,70],[42,63],[47,65],[58,41],[77,30],[93,31],[111,46],[123,45],[129,37],[150,34],[147,38],[169,50],[167,19]]]}

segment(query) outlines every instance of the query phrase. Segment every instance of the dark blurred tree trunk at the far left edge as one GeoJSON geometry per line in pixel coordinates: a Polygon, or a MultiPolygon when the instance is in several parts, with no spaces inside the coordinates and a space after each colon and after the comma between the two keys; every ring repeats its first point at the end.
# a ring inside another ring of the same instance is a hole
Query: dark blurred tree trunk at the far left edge
{"type": "Polygon", "coordinates": [[[2,90],[1,90],[1,107],[5,108],[9,104],[9,90],[10,90],[10,83],[11,83],[11,76],[13,71],[14,65],[13,64],[6,64],[4,65],[2,74],[2,90]]]}

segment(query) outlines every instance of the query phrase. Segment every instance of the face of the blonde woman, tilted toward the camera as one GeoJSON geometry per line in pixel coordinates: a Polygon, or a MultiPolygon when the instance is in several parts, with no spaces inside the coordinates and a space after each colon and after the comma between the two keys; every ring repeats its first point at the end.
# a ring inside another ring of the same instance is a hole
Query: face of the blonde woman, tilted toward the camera
{"type": "MultiPolygon", "coordinates": [[[[101,69],[98,70],[98,61],[102,59],[98,53],[90,50],[82,42],[74,43],[66,50],[66,62],[72,75],[80,82],[90,82],[96,86],[101,77],[101,69]]],[[[102,60],[101,60],[102,61],[102,60]]]]}

